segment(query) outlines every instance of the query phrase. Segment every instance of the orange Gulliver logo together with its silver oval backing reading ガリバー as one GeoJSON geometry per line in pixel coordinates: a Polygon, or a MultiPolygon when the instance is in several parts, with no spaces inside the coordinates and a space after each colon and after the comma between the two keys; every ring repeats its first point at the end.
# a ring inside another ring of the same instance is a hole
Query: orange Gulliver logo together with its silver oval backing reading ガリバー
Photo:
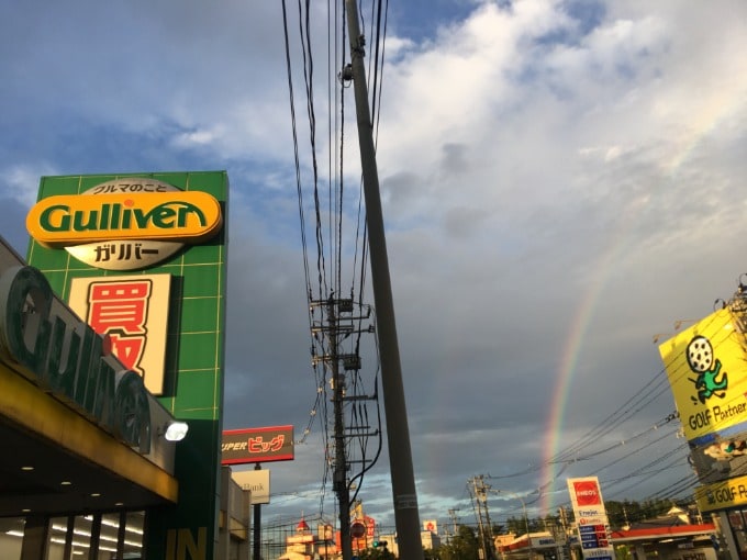
{"type": "Polygon", "coordinates": [[[221,204],[209,193],[141,178],[42,199],[26,216],[40,244],[105,270],[147,268],[185,244],[211,238],[222,225],[221,204]]]}

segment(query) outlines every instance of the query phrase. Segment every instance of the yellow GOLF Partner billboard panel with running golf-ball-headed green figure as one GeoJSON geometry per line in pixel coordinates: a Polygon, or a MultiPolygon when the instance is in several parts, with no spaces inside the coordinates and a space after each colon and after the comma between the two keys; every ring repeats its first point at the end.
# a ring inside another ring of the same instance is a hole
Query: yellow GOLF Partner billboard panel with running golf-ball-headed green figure
{"type": "Polygon", "coordinates": [[[744,340],[724,309],[659,346],[688,441],[747,421],[744,340]]]}

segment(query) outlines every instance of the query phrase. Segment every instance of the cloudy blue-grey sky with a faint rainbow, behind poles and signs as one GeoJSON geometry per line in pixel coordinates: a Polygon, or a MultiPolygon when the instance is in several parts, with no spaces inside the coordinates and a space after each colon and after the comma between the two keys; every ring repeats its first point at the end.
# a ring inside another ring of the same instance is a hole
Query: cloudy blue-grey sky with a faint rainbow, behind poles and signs
{"type": "MultiPolygon", "coordinates": [[[[353,90],[341,98],[328,78],[342,29],[331,35],[335,15],[311,3],[319,184],[322,197],[339,184],[342,142],[349,249],[360,193],[353,90]]],[[[532,514],[567,504],[566,477],[599,475],[605,499],[687,495],[653,340],[711,313],[747,272],[747,4],[384,3],[377,159],[421,518],[445,523],[450,508],[473,523],[479,475],[504,492],[489,502],[499,520],[516,514],[511,493],[532,514]]],[[[42,176],[227,170],[224,427],[292,424],[301,439],[310,426],[297,459],[271,466],[265,515],[323,504],[332,516],[281,7],[4,0],[0,235],[25,254],[42,176]]],[[[315,282],[297,2],[287,15],[315,282]]],[[[376,360],[364,366],[371,384],[376,360]]],[[[388,475],[384,445],[358,496],[383,523],[388,475]]]]}

